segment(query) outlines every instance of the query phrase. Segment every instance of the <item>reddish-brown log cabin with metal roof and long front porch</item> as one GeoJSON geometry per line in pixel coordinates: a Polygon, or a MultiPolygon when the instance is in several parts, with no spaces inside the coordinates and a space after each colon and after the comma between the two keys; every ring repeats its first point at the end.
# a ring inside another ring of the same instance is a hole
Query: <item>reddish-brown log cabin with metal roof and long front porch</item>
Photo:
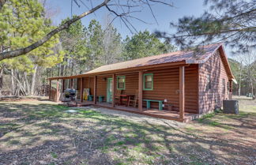
{"type": "Polygon", "coordinates": [[[138,58],[79,75],[50,77],[49,81],[49,99],[53,101],[63,101],[66,88],[75,88],[79,106],[188,122],[221,107],[224,99],[231,99],[235,77],[224,46],[215,43],[201,47],[201,51],[138,58]]]}

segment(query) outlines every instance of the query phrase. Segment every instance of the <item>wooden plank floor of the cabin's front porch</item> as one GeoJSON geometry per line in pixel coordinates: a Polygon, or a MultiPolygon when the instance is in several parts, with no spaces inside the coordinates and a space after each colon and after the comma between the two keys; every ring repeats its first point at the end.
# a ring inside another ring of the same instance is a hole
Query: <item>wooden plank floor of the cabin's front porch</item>
{"type": "Polygon", "coordinates": [[[77,107],[84,107],[84,106],[94,106],[94,107],[105,107],[110,108],[111,110],[116,111],[127,111],[135,114],[144,114],[148,115],[154,118],[164,118],[168,120],[175,120],[179,122],[190,122],[194,118],[199,118],[200,114],[192,114],[192,113],[186,113],[184,114],[184,118],[179,118],[179,112],[178,111],[160,111],[156,109],[146,109],[143,108],[143,111],[139,111],[136,107],[126,107],[126,106],[115,106],[112,107],[111,103],[99,103],[97,102],[94,104],[92,101],[77,101],[77,107]]]}

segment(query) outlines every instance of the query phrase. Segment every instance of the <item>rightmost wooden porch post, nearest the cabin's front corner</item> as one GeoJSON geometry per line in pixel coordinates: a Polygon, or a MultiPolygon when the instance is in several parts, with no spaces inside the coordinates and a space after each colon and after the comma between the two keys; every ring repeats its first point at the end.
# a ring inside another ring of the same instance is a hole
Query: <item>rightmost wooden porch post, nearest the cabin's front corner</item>
{"type": "Polygon", "coordinates": [[[185,109],[185,66],[179,66],[179,118],[183,120],[185,109]]]}

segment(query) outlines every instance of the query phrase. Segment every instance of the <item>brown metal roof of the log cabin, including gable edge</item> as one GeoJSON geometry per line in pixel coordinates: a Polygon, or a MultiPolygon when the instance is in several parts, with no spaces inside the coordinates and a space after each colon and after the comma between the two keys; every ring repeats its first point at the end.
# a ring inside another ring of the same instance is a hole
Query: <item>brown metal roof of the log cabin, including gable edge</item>
{"type": "Polygon", "coordinates": [[[71,76],[71,77],[51,77],[49,79],[62,79],[62,78],[75,78],[75,77],[83,77],[83,76],[90,76],[90,75],[97,75],[100,73],[107,73],[107,72],[115,72],[119,70],[126,70],[126,69],[138,69],[143,67],[152,67],[152,66],[160,66],[163,64],[199,64],[204,63],[208,60],[208,58],[214,54],[214,52],[221,47],[223,53],[221,54],[224,58],[224,64],[228,67],[227,72],[231,77],[233,77],[231,69],[228,65],[228,58],[224,54],[224,49],[221,43],[209,44],[204,47],[201,47],[202,50],[198,51],[175,51],[168,54],[160,54],[149,56],[145,58],[137,58],[134,60],[126,61],[126,62],[119,62],[115,64],[110,64],[106,66],[100,66],[99,68],[92,69],[87,73],[83,73],[81,75],[71,76]]]}

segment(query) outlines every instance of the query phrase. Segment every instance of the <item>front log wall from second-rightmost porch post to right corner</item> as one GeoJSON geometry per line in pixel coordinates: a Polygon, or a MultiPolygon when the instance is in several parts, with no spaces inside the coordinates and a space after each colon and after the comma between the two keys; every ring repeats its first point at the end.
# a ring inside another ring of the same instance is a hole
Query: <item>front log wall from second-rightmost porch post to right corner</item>
{"type": "MultiPolygon", "coordinates": [[[[143,91],[143,99],[167,99],[167,104],[173,105],[174,111],[179,111],[179,67],[147,71],[153,73],[153,90],[143,91]]],[[[198,113],[198,65],[185,67],[185,112],[198,113]]],[[[145,102],[143,107],[145,107],[145,102]]],[[[158,108],[158,103],[152,103],[158,108]]]]}

